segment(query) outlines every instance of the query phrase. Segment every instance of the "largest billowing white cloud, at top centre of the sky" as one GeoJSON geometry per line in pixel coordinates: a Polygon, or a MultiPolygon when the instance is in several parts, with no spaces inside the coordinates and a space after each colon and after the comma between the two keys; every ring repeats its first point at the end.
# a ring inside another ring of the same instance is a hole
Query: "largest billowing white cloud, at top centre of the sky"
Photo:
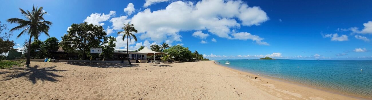
{"type": "Polygon", "coordinates": [[[230,28],[260,25],[267,20],[266,13],[260,7],[248,7],[243,1],[203,0],[196,4],[174,1],[165,9],[153,12],[145,9],[134,15],[131,23],[138,32],[143,33],[141,39],[148,38],[156,42],[169,40],[172,43],[182,41],[179,32],[190,30],[207,30],[211,34],[231,39],[230,28]]]}

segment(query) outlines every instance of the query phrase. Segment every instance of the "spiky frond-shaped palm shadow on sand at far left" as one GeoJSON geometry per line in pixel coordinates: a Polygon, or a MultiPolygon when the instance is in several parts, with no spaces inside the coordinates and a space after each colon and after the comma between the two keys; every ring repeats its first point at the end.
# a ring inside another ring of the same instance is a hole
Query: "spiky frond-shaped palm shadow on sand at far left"
{"type": "Polygon", "coordinates": [[[8,75],[4,77],[4,81],[6,80],[12,80],[19,77],[28,77],[28,80],[31,81],[33,84],[36,84],[36,80],[41,81],[58,81],[54,77],[63,77],[61,75],[54,74],[53,72],[57,71],[67,71],[67,70],[57,70],[55,69],[56,66],[53,67],[44,67],[44,68],[38,68],[38,65],[35,65],[34,67],[25,67],[25,68],[3,68],[7,70],[16,70],[15,72],[2,72],[0,74],[6,74],[6,73],[12,73],[11,75],[8,75]],[[21,70],[21,71],[19,71],[21,70]]]}

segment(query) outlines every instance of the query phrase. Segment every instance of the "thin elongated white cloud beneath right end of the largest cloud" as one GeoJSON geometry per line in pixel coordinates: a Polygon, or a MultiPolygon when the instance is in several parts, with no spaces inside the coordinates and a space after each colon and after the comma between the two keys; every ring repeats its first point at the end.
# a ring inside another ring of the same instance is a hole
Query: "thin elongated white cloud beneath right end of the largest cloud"
{"type": "Polygon", "coordinates": [[[239,39],[239,40],[251,39],[253,41],[256,41],[256,43],[259,45],[270,45],[269,43],[262,41],[264,38],[260,38],[260,36],[257,36],[257,35],[251,35],[251,33],[248,33],[248,32],[232,33],[231,35],[233,36],[232,39],[239,39]]]}

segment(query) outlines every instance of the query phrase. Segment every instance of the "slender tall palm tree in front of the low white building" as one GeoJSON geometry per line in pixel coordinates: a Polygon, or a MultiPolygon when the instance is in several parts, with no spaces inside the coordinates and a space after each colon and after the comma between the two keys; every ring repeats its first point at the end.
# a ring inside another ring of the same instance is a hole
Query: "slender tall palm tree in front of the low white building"
{"type": "Polygon", "coordinates": [[[132,38],[134,39],[134,41],[137,42],[137,37],[134,34],[130,33],[130,32],[136,32],[137,33],[137,30],[134,29],[134,25],[133,24],[129,24],[129,23],[128,24],[124,24],[124,27],[122,29],[124,31],[118,32],[118,35],[120,33],[124,33],[124,35],[123,35],[123,41],[124,41],[124,39],[126,37],[126,55],[128,57],[129,64],[132,64],[131,61],[129,61],[129,52],[128,52],[129,39],[131,40],[131,43],[132,43],[132,38]]]}

